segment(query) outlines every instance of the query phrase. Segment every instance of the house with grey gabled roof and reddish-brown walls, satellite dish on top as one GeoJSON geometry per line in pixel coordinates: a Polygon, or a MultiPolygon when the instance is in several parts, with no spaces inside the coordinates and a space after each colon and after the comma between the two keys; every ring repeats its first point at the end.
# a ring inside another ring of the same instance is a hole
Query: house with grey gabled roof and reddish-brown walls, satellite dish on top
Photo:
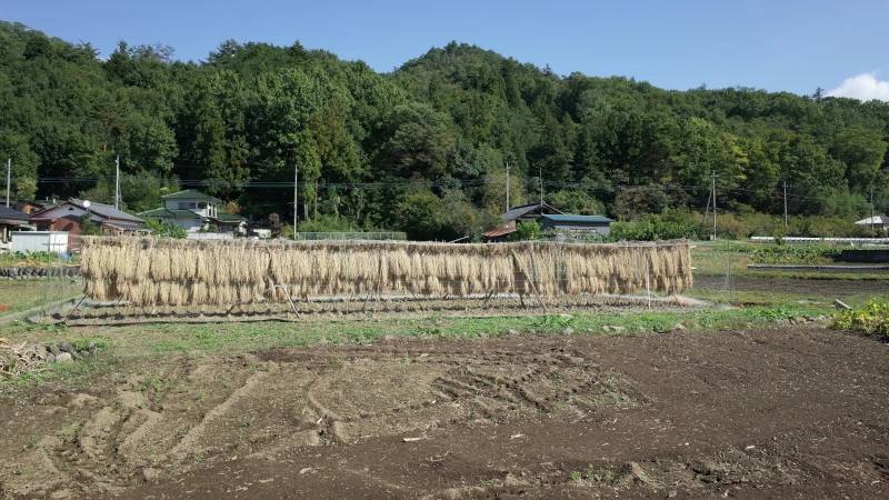
{"type": "MultiPolygon", "coordinates": [[[[131,216],[123,210],[106,203],[90,202],[87,208],[84,200],[69,198],[58,206],[31,214],[31,222],[40,231],[64,231],[70,234],[80,234],[80,217],[89,213],[90,220],[101,229],[103,234],[129,236],[146,232],[141,226],[144,221],[131,216]]],[[[71,240],[77,243],[76,239],[71,240]]]]}

